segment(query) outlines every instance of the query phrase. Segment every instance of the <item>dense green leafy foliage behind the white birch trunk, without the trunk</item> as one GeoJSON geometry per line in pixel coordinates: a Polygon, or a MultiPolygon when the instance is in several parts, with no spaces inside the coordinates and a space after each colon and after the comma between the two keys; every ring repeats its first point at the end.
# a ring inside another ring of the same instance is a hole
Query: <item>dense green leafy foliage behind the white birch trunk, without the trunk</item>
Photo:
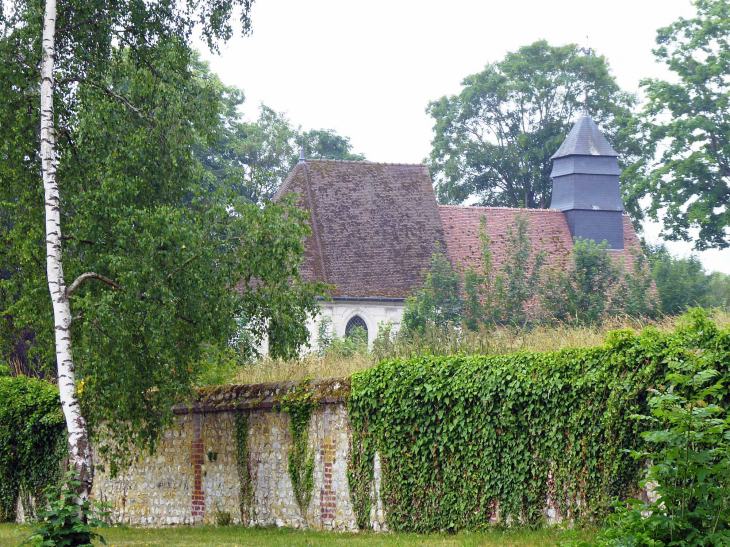
{"type": "MultiPolygon", "coordinates": [[[[100,453],[123,461],[130,444],[155,448],[172,405],[229,344],[237,319],[248,334],[240,353],[268,334],[272,354],[292,355],[308,339],[306,318],[321,290],[299,274],[307,213],[291,200],[250,204],[196,159],[195,145],[215,136],[225,105],[216,82],[198,77],[192,53],[170,41],[150,52],[152,65],[130,50],[110,55],[96,77],[139,111],[79,84],[58,172],[67,279],[95,272],[111,280],[89,279],[70,297],[82,408],[103,437],[100,453]]],[[[11,114],[3,103],[0,120],[11,114]]],[[[18,123],[0,121],[0,132],[18,123]]],[[[13,221],[4,247],[12,274],[0,280],[0,292],[12,297],[0,313],[33,329],[33,354],[51,365],[37,173],[0,155],[0,208],[13,221]],[[4,168],[18,176],[6,178],[4,168]]]]}

